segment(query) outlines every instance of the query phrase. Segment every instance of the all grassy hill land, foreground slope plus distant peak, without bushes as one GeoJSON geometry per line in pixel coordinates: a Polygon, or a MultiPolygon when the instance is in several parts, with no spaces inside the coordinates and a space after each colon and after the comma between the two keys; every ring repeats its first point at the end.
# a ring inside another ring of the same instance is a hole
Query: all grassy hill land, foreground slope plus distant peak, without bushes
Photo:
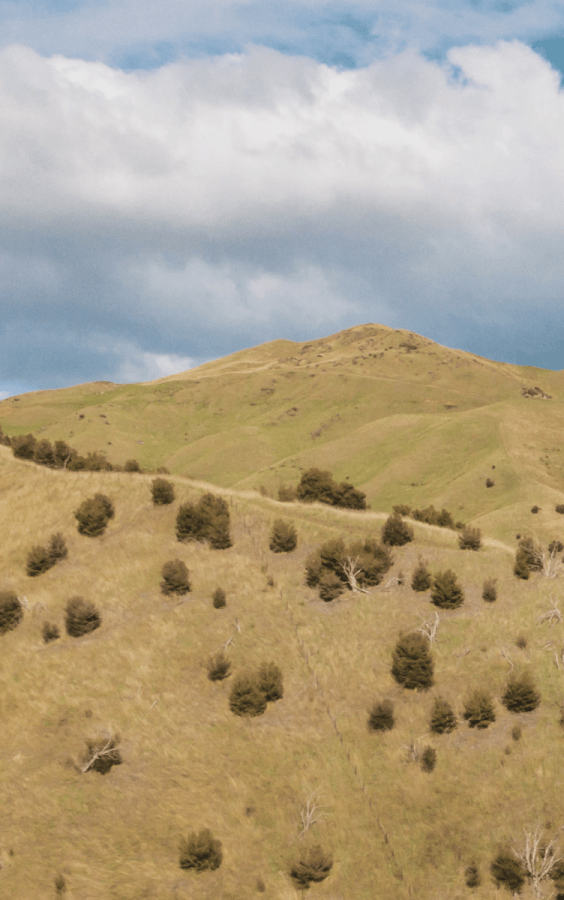
{"type": "MultiPolygon", "coordinates": [[[[0,896],[493,900],[511,892],[492,862],[517,859],[525,833],[538,828],[544,847],[556,836],[564,854],[562,564],[514,572],[519,539],[546,554],[564,538],[564,372],[365,325],[146,384],[10,397],[0,425],[142,470],[49,468],[0,446],[0,594],[21,607],[0,634],[0,896]],[[311,468],[368,508],[278,500],[311,468]],[[158,477],[173,502],[154,502],[158,477]],[[228,511],[224,549],[177,539],[181,506],[210,493],[228,511]],[[96,494],[114,514],[90,536],[75,513],[96,494]],[[389,546],[379,580],[321,599],[307,580],[319,548],[342,539],[360,558],[398,505],[445,508],[481,546],[405,515],[412,539],[389,546]],[[297,534],[288,552],[270,549],[279,519],[297,534]],[[30,550],[56,534],[67,555],[30,575],[30,550]],[[173,560],[189,572],[183,593],[162,588],[173,560]],[[432,578],[453,571],[463,599],[441,607],[414,590],[421,561],[432,578]],[[99,615],[82,636],[65,629],[73,597],[99,615]],[[392,675],[414,632],[433,668],[419,689],[392,675]],[[230,674],[212,680],[219,653],[230,674]],[[264,663],[282,696],[234,714],[233,683],[264,663]],[[504,702],[518,677],[534,681],[534,708],[504,702]],[[491,694],[487,727],[464,718],[476,690],[491,694]],[[451,730],[430,727],[436,701],[451,730]],[[393,727],[369,727],[382,702],[393,727]],[[120,753],[105,773],[84,762],[100,736],[120,753]],[[181,867],[179,843],[202,829],[221,865],[181,867]],[[304,888],[292,869],[317,846],[332,864],[304,888]]],[[[523,869],[515,887],[563,896],[564,867],[552,875],[537,884],[523,869]]]]}

